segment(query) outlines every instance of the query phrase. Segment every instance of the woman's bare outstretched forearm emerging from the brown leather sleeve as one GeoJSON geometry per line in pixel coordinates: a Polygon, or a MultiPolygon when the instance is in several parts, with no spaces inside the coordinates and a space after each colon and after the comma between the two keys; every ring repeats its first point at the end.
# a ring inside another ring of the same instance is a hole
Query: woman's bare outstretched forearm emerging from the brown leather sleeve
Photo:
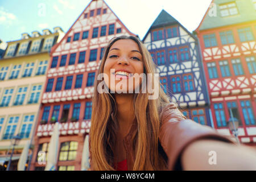
{"type": "Polygon", "coordinates": [[[256,170],[256,150],[218,140],[190,143],[181,154],[183,170],[256,170]]]}

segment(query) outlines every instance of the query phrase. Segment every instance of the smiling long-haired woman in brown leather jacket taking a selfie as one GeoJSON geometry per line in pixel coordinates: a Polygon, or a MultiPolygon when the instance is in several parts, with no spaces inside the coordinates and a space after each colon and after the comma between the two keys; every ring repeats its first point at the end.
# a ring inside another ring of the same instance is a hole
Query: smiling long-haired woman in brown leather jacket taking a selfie
{"type": "MultiPolygon", "coordinates": [[[[116,79],[105,82],[109,92],[98,92],[100,79],[94,84],[89,134],[91,170],[211,169],[210,164],[205,164],[211,150],[217,150],[222,159],[225,156],[226,163],[222,163],[220,169],[225,165],[229,168],[233,167],[229,163],[233,158],[226,160],[226,156],[234,152],[234,148],[247,152],[255,164],[252,151],[247,148],[241,150],[230,138],[218,134],[211,127],[185,118],[164,93],[160,82],[156,86],[159,96],[154,100],[148,99],[148,92],[118,93],[115,90],[119,82],[129,84],[127,80],[135,74],[152,74],[146,80],[154,82],[155,64],[138,38],[119,36],[112,39],[105,48],[98,75],[101,73],[106,75],[104,81],[111,76],[116,79]],[[205,141],[208,143],[207,150],[202,145],[205,141]],[[220,144],[222,148],[216,147],[220,144]],[[198,152],[202,158],[197,155],[198,152]]],[[[133,89],[141,84],[136,82],[133,89]]],[[[142,91],[142,88],[139,90],[142,91]]],[[[240,155],[238,152],[237,156],[240,155]]],[[[249,160],[245,161],[249,163],[249,160]]],[[[250,162],[249,169],[255,168],[250,162]]]]}

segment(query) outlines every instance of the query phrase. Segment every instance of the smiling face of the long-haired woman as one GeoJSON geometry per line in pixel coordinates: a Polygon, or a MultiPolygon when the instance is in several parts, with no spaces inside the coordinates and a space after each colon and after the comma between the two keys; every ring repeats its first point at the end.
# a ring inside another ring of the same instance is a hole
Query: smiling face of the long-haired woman
{"type": "MultiPolygon", "coordinates": [[[[143,73],[142,53],[139,46],[131,39],[117,40],[109,49],[104,65],[105,83],[112,92],[128,93],[129,90],[137,88],[141,79],[135,81],[135,73],[143,73]],[[110,70],[111,69],[111,70],[110,70]],[[130,84],[133,80],[133,84],[130,84]],[[131,88],[131,86],[133,86],[131,88]]],[[[130,92],[129,92],[130,93],[130,92]]],[[[134,92],[133,92],[134,93],[134,92]]]]}

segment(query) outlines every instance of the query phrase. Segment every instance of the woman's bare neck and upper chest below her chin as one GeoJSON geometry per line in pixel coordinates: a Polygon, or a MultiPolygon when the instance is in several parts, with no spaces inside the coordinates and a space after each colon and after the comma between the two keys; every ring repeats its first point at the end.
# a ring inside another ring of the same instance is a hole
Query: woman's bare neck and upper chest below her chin
{"type": "Polygon", "coordinates": [[[126,135],[132,125],[135,113],[133,109],[133,94],[115,94],[117,104],[117,121],[119,132],[126,135]]]}

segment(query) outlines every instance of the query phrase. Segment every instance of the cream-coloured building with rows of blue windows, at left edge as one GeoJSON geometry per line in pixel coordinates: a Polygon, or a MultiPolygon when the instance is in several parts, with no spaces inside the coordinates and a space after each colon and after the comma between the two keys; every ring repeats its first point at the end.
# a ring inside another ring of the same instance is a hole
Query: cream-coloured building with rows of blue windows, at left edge
{"type": "MultiPolygon", "coordinates": [[[[11,169],[16,168],[22,148],[32,141],[40,98],[46,81],[52,46],[64,36],[60,27],[22,34],[22,39],[7,42],[0,59],[0,165],[7,167],[13,149],[12,138],[22,138],[15,146],[11,169]]],[[[31,143],[33,145],[33,143],[31,143]]],[[[30,154],[31,154],[30,150],[30,154]]]]}

